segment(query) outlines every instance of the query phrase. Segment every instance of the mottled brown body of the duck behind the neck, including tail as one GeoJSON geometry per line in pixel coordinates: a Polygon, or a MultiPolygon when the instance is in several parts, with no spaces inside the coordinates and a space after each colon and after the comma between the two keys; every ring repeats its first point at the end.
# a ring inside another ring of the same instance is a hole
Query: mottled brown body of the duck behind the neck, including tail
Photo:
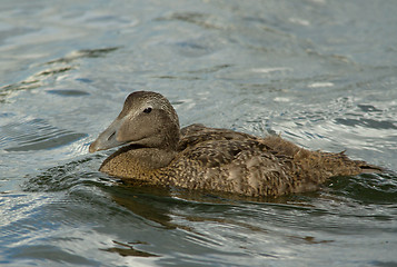
{"type": "Polygon", "coordinates": [[[316,190],[333,176],[377,169],[344,152],[310,151],[279,136],[259,138],[192,125],[181,130],[173,184],[195,189],[279,196],[316,190]]]}

